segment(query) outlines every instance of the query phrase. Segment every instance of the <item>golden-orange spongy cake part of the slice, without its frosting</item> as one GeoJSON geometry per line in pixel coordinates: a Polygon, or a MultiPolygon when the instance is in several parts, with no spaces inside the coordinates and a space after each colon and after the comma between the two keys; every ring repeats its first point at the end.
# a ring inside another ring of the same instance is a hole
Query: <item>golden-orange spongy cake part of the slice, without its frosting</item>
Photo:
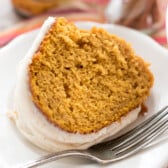
{"type": "Polygon", "coordinates": [[[33,102],[51,123],[85,134],[141,105],[153,75],[124,40],[59,18],[32,58],[29,83],[33,102]]]}

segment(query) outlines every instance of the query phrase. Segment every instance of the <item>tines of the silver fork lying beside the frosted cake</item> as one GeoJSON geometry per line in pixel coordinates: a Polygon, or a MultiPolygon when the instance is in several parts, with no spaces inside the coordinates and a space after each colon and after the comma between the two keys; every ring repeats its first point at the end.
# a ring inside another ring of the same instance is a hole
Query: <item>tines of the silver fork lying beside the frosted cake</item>
{"type": "MultiPolygon", "coordinates": [[[[168,129],[168,106],[142,122],[128,133],[108,142],[94,146],[99,150],[111,150],[116,155],[131,155],[149,144],[154,138],[168,129]]],[[[121,158],[120,158],[121,159],[121,158]]]]}

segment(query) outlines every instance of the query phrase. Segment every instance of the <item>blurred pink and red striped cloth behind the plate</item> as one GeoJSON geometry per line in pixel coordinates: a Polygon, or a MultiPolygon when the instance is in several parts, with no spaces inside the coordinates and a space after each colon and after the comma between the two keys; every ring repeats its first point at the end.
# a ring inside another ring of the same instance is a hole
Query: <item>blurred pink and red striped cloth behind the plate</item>
{"type": "MultiPolygon", "coordinates": [[[[6,45],[8,42],[22,33],[39,28],[48,16],[63,16],[71,21],[94,21],[99,23],[107,23],[108,19],[105,16],[105,9],[108,3],[109,0],[74,1],[70,5],[52,9],[51,11],[43,13],[42,15],[23,19],[12,27],[0,31],[0,47],[6,45]]],[[[167,4],[161,3],[161,5],[161,8],[163,8],[162,11],[165,13],[167,4]]],[[[151,36],[161,45],[167,46],[165,25],[163,25],[151,36]]]]}

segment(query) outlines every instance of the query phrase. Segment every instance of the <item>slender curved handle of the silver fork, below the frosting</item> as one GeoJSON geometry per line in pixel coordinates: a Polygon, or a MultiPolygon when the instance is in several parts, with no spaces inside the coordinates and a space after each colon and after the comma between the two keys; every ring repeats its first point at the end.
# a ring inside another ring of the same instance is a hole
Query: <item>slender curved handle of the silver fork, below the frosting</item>
{"type": "Polygon", "coordinates": [[[52,153],[46,156],[42,156],[39,159],[32,160],[30,162],[27,162],[26,164],[23,164],[21,166],[18,166],[16,168],[33,168],[34,166],[41,166],[49,162],[53,162],[55,160],[69,157],[69,156],[77,156],[77,157],[84,157],[84,158],[90,158],[92,160],[95,160],[93,156],[91,156],[86,151],[82,150],[67,150],[67,151],[61,151],[52,153]]]}

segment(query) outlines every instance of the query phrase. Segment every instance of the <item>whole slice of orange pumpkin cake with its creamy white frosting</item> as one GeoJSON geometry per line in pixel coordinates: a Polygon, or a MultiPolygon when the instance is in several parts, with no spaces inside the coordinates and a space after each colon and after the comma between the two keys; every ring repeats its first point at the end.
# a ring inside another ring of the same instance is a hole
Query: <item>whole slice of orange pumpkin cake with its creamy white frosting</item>
{"type": "Polygon", "coordinates": [[[14,119],[40,148],[85,149],[133,122],[152,84],[123,39],[50,17],[19,65],[14,119]]]}

